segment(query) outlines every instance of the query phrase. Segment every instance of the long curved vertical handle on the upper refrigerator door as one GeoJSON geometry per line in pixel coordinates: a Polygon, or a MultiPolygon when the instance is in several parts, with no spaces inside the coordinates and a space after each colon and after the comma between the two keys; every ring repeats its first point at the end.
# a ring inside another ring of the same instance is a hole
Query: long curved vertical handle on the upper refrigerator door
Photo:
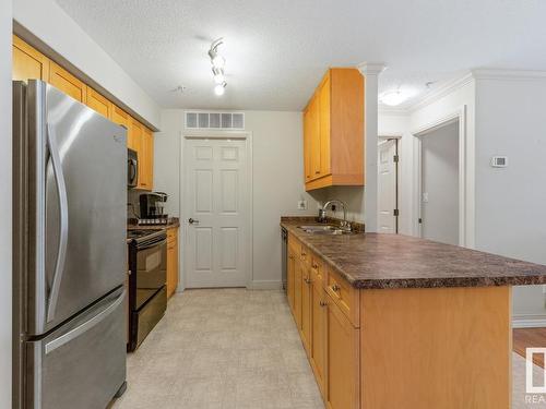
{"type": "Polygon", "coordinates": [[[62,173],[62,163],[57,146],[57,139],[54,128],[47,124],[47,145],[51,156],[51,164],[54,168],[55,181],[57,184],[57,193],[59,195],[59,251],[57,253],[57,261],[55,263],[54,280],[49,291],[47,303],[47,322],[50,323],[55,320],[55,310],[59,299],[59,290],[62,280],[62,273],[64,270],[64,261],[67,258],[67,242],[68,242],[68,197],[67,185],[64,184],[64,176],[62,173]]]}

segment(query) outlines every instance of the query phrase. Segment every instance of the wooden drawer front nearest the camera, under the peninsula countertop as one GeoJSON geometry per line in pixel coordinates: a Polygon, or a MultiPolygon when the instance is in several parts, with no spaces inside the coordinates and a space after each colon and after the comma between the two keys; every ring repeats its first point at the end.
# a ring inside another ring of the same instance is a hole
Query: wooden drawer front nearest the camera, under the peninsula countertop
{"type": "Polygon", "coordinates": [[[353,288],[333,268],[329,268],[327,276],[327,292],[332,297],[335,304],[356,327],[360,327],[360,291],[353,288]]]}

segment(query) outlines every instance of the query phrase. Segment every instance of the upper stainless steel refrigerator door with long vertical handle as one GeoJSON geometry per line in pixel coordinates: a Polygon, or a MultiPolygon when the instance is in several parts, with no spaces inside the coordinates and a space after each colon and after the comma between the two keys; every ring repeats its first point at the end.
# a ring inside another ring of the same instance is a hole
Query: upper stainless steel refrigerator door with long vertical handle
{"type": "Polygon", "coordinates": [[[27,334],[39,336],[124,282],[126,130],[55,87],[27,87],[27,334]]]}

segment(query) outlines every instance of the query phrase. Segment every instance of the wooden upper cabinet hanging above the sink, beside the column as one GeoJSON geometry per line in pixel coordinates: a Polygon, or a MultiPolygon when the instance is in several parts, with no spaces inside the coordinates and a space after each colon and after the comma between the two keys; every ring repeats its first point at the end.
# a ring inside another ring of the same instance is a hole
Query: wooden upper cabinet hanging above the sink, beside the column
{"type": "Polygon", "coordinates": [[[307,191],[364,185],[364,77],[357,69],[327,72],[304,111],[304,147],[307,191]]]}

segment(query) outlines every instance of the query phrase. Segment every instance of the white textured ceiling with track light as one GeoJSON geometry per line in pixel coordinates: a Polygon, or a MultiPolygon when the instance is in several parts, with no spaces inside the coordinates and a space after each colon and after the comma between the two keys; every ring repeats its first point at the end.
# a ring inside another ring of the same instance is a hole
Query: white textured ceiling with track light
{"type": "Polygon", "coordinates": [[[56,1],[165,108],[299,110],[327,68],[364,61],[415,98],[473,68],[546,70],[544,0],[56,1]]]}

